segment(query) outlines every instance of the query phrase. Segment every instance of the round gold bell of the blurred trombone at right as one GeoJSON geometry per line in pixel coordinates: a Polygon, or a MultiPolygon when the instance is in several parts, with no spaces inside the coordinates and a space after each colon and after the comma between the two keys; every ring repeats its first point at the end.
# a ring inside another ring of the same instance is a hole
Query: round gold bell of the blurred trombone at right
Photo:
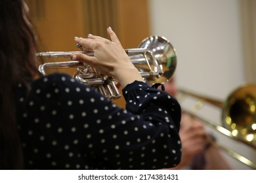
{"type": "Polygon", "coordinates": [[[222,122],[242,141],[256,141],[256,86],[242,86],[230,93],[223,103],[222,122]]]}

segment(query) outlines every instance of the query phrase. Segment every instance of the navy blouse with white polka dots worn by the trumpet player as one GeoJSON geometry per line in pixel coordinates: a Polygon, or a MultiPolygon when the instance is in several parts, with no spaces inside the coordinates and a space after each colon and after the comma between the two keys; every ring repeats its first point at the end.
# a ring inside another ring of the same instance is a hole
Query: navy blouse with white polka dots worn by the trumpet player
{"type": "Polygon", "coordinates": [[[66,74],[16,90],[26,169],[162,169],[181,159],[181,108],[167,93],[135,81],[127,110],[66,74]]]}

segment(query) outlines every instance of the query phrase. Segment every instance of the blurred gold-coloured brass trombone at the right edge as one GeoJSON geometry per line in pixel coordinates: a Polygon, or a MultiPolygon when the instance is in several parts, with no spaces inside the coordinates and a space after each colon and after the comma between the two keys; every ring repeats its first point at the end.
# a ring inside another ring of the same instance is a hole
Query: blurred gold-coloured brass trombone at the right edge
{"type": "MultiPolygon", "coordinates": [[[[224,102],[182,89],[179,90],[178,96],[177,99],[180,102],[184,101],[186,97],[197,99],[192,110],[183,109],[184,112],[199,118],[199,120],[206,125],[209,125],[209,127],[212,127],[223,135],[235,141],[242,142],[253,150],[256,149],[256,85],[247,84],[240,86],[230,93],[224,102]],[[206,120],[197,114],[198,110],[200,110],[205,103],[221,108],[221,125],[206,120]]],[[[241,161],[252,169],[256,169],[256,163],[250,159],[245,158],[234,150],[219,144],[216,145],[232,158],[241,161]]]]}

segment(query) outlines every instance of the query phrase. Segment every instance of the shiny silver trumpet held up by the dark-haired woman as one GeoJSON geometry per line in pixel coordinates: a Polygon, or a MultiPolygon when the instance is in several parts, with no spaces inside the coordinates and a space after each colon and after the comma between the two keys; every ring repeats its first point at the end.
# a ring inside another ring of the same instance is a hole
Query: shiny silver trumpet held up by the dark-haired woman
{"type": "MultiPolygon", "coordinates": [[[[77,44],[79,51],[73,52],[39,52],[37,57],[43,58],[69,58],[72,54],[82,53],[88,56],[94,56],[94,52],[83,50],[77,44]]],[[[173,45],[161,36],[150,36],[140,42],[138,48],[126,49],[131,62],[138,69],[145,82],[156,83],[169,80],[177,67],[177,53],[173,45]]],[[[102,75],[94,67],[79,61],[58,61],[52,63],[43,63],[39,65],[39,72],[47,75],[47,68],[68,68],[76,67],[73,75],[75,80],[82,82],[87,86],[92,86],[100,91],[102,95],[109,99],[118,99],[121,97],[116,86],[117,80],[112,76],[102,75]]]]}

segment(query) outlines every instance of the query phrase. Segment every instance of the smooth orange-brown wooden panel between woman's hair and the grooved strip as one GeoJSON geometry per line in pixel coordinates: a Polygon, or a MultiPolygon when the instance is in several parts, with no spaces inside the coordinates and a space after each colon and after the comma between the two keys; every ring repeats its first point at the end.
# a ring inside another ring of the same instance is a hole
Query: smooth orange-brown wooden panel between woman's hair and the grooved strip
{"type": "MultiPolygon", "coordinates": [[[[77,50],[74,37],[84,37],[81,0],[27,0],[33,25],[38,33],[38,52],[77,50]]],[[[69,59],[45,59],[44,62],[69,59]]],[[[52,69],[73,75],[75,69],[52,69]]]]}

